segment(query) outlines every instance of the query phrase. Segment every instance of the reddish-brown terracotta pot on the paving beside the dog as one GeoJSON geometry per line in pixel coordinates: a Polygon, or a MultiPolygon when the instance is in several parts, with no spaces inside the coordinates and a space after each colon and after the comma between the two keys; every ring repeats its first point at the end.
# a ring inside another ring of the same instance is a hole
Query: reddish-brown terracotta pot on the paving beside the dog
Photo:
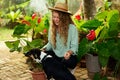
{"type": "Polygon", "coordinates": [[[45,72],[31,72],[33,80],[47,80],[45,72]]]}

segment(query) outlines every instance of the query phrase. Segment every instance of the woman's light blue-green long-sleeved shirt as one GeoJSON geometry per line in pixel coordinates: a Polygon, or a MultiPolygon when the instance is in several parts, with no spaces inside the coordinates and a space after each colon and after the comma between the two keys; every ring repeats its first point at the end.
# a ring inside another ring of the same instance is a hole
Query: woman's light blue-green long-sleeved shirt
{"type": "Polygon", "coordinates": [[[56,35],[56,48],[50,42],[50,31],[48,33],[48,43],[44,46],[47,51],[53,50],[58,57],[63,57],[65,52],[72,50],[74,54],[78,51],[78,31],[75,25],[70,24],[68,30],[68,40],[67,45],[64,45],[63,40],[60,35],[56,35]]]}

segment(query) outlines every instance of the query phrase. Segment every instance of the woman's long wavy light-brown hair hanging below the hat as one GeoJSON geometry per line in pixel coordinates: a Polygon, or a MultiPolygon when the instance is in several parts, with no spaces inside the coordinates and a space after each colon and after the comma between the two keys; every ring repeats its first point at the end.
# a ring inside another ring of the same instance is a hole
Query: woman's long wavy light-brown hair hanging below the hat
{"type": "Polygon", "coordinates": [[[51,43],[56,48],[56,33],[58,32],[60,35],[60,38],[63,40],[64,45],[66,46],[67,39],[68,39],[68,29],[69,24],[73,24],[73,21],[70,17],[70,14],[55,11],[59,15],[59,25],[55,25],[55,23],[52,21],[51,24],[51,43]]]}

